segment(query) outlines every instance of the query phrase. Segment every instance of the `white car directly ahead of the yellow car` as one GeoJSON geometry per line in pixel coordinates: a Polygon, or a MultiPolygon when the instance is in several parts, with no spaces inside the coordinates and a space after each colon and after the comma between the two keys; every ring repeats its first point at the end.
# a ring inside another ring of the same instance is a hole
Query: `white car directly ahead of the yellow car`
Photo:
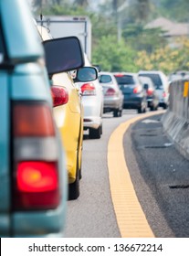
{"type": "MultiPolygon", "coordinates": [[[[85,66],[92,67],[85,55],[85,66]]],[[[84,130],[89,130],[89,138],[100,139],[102,134],[102,114],[103,114],[103,90],[99,80],[89,82],[77,82],[82,94],[84,108],[84,130]]]]}

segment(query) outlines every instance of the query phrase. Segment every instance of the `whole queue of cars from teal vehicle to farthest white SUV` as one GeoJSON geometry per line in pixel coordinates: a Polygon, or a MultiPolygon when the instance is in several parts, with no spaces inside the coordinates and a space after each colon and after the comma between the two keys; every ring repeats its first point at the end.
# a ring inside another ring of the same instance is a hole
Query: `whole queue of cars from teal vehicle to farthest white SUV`
{"type": "Polygon", "coordinates": [[[25,1],[0,8],[0,237],[61,237],[83,130],[100,139],[105,112],[166,108],[165,89],[152,73],[93,67],[78,37],[53,38],[25,1]]]}

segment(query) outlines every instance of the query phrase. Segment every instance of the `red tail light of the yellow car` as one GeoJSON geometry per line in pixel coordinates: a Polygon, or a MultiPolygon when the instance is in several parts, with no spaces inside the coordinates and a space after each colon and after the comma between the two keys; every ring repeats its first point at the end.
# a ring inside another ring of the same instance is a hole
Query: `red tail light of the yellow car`
{"type": "Polygon", "coordinates": [[[53,85],[51,87],[51,95],[53,98],[53,107],[61,106],[68,102],[68,91],[66,88],[53,85]]]}

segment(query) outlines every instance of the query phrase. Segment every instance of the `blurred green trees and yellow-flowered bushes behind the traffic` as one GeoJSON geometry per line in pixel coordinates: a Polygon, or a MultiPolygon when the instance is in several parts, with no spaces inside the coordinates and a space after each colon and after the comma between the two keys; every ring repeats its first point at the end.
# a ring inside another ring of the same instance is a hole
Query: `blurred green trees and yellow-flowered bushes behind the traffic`
{"type": "MultiPolygon", "coordinates": [[[[94,2],[94,1],[91,1],[94,2]]],[[[97,1],[98,2],[98,1],[97,1]]],[[[169,74],[189,69],[188,0],[106,0],[92,6],[89,0],[34,0],[35,16],[89,16],[92,22],[92,62],[107,71],[161,69],[169,74]],[[156,3],[158,2],[158,3],[156,3]],[[188,23],[188,37],[170,46],[160,28],[145,25],[159,16],[188,23]]]]}

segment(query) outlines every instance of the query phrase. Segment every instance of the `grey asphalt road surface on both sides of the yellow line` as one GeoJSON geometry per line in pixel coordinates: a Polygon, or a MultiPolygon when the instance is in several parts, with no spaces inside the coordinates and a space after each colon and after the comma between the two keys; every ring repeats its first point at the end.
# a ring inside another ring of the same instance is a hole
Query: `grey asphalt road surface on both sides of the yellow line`
{"type": "MultiPolygon", "coordinates": [[[[119,238],[111,202],[107,150],[110,134],[136,116],[103,117],[103,135],[84,135],[80,197],[68,201],[67,238],[119,238]]],[[[131,180],[155,237],[189,237],[189,164],[163,133],[161,115],[131,125],[123,138],[131,180]]]]}

